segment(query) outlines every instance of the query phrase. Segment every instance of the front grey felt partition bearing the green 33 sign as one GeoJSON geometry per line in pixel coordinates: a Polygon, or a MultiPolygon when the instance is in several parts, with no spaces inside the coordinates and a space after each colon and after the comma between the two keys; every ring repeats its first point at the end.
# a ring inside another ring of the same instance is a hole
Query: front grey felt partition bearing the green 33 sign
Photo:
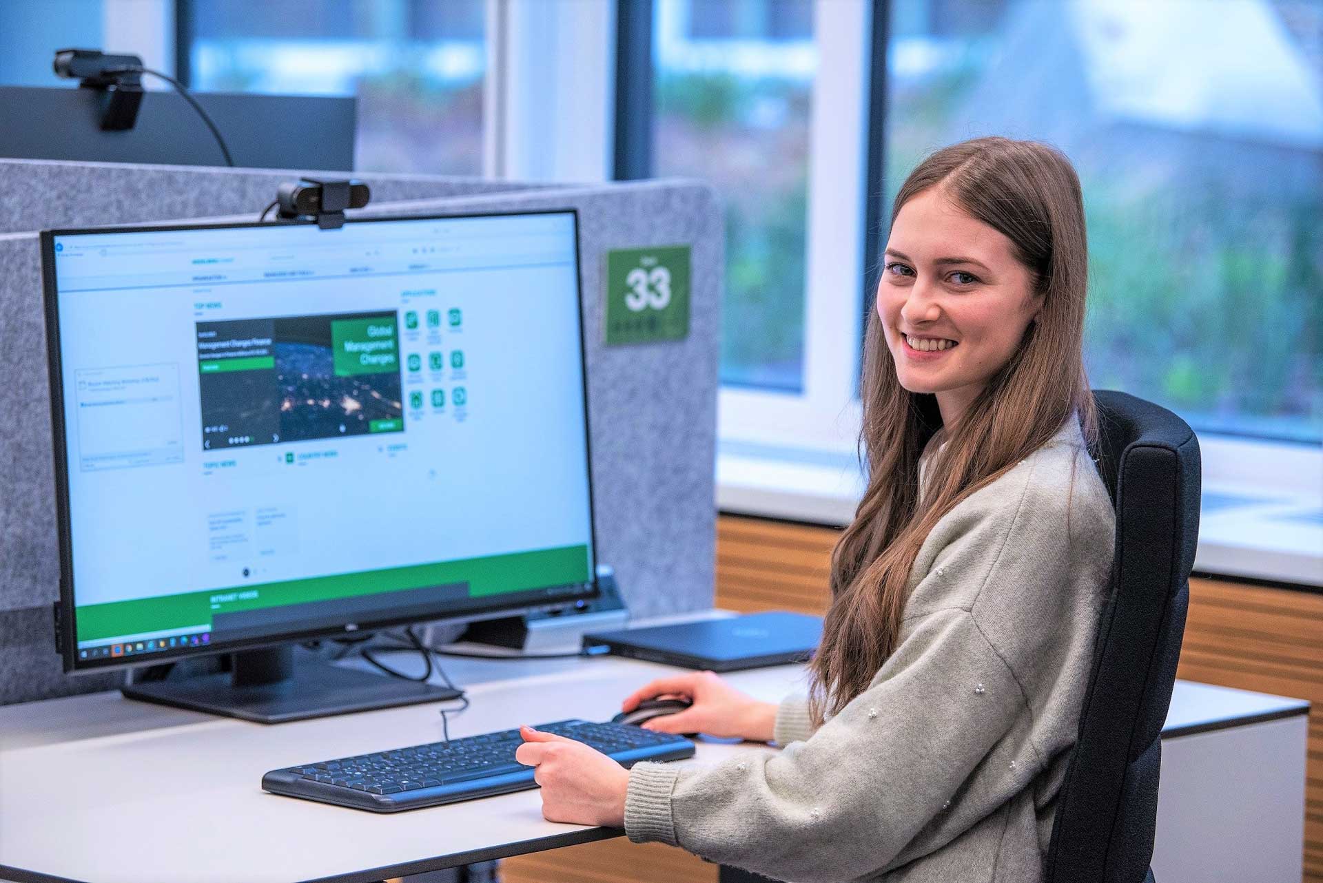
{"type": "MultiPolygon", "coordinates": [[[[134,193],[147,198],[148,192],[134,193]]],[[[683,181],[548,188],[378,204],[364,215],[564,208],[577,209],[581,223],[601,559],[615,566],[638,615],[710,607],[724,267],[722,217],[712,189],[683,181]],[[683,243],[693,250],[688,337],[606,346],[606,251],[683,243]]],[[[135,221],[148,219],[146,210],[136,214],[135,221]]],[[[61,223],[87,222],[77,206],[64,218],[70,219],[61,223]]],[[[58,597],[60,568],[36,234],[0,235],[0,703],[116,686],[118,674],[62,675],[54,653],[50,603],[58,597]]],[[[151,541],[142,538],[144,546],[151,541]]]]}

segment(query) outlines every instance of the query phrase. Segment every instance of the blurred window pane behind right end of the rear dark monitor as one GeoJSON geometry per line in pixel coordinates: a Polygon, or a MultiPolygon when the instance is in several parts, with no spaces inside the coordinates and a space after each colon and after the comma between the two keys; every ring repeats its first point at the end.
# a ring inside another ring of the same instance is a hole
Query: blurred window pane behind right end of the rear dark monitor
{"type": "Polygon", "coordinates": [[[360,172],[482,174],[484,0],[180,0],[202,91],[357,95],[360,172]]]}

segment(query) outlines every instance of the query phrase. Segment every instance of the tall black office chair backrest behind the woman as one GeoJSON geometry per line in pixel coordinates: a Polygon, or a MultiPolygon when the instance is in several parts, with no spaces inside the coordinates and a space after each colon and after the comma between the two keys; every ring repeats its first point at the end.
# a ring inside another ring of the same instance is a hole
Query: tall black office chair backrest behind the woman
{"type": "Polygon", "coordinates": [[[1080,738],[1058,796],[1049,883],[1151,879],[1162,727],[1199,539],[1199,441],[1179,416],[1095,391],[1098,471],[1117,509],[1080,738]]]}

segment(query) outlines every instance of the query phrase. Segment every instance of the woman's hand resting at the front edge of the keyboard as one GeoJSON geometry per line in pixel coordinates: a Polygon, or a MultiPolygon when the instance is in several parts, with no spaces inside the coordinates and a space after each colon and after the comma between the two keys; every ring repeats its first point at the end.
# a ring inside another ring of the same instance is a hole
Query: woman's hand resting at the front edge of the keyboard
{"type": "Polygon", "coordinates": [[[524,738],[515,760],[536,767],[542,787],[542,817],[549,822],[624,826],[624,793],[630,772],[582,742],[520,727],[524,738]]]}

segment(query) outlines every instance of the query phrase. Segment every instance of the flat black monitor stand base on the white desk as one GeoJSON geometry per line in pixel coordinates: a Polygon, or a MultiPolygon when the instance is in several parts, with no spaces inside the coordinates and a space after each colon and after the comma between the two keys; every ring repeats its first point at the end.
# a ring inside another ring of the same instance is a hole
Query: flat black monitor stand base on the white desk
{"type": "Polygon", "coordinates": [[[229,673],[128,683],[122,693],[131,699],[255,723],[287,723],[463,695],[445,686],[331,665],[292,645],[234,653],[232,660],[229,673]]]}

